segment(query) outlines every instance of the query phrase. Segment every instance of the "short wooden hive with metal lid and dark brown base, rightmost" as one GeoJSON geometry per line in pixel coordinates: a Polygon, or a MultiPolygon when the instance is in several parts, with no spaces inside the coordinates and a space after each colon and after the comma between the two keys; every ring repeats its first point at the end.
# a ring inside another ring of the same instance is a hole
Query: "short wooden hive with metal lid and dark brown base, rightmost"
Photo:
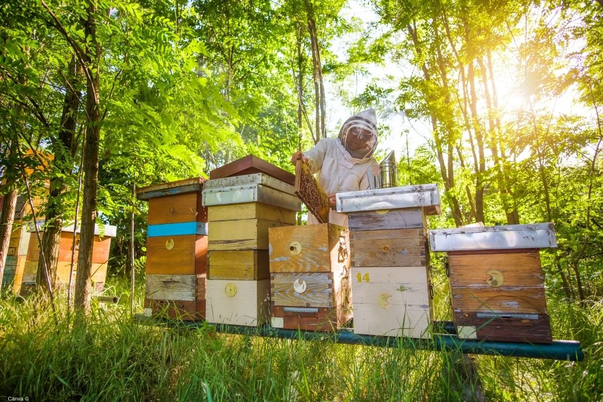
{"type": "Polygon", "coordinates": [[[459,338],[550,343],[540,248],[557,247],[554,225],[461,227],[429,232],[448,253],[459,338]]]}

